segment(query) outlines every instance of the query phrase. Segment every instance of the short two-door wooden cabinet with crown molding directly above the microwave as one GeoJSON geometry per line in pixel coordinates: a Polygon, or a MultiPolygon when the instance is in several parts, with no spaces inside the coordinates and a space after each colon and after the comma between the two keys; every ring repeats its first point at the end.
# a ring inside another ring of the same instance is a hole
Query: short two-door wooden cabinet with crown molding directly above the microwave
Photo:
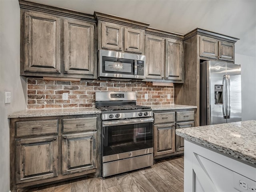
{"type": "Polygon", "coordinates": [[[144,54],[149,24],[94,12],[98,22],[98,49],[144,54]]]}

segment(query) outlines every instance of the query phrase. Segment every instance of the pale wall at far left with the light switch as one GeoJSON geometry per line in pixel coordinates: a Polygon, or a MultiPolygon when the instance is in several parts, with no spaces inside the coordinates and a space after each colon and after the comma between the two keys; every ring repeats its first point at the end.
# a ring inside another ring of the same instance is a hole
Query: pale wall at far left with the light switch
{"type": "Polygon", "coordinates": [[[26,109],[26,82],[20,77],[20,7],[0,0],[0,192],[10,190],[8,114],[26,109]],[[23,89],[24,88],[24,89],[23,89]],[[4,104],[4,92],[12,93],[4,104]]]}

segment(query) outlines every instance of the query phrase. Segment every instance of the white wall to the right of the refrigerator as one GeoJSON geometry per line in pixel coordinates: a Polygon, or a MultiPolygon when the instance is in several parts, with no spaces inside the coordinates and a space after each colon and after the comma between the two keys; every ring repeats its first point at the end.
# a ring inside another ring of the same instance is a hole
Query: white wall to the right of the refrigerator
{"type": "Polygon", "coordinates": [[[241,65],[242,120],[256,120],[256,58],[235,54],[235,63],[241,65]]]}

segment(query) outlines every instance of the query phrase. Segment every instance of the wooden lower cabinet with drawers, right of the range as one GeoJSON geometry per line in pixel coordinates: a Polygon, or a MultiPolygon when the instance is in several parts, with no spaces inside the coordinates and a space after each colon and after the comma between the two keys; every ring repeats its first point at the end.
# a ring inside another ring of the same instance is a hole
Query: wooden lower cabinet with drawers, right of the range
{"type": "Polygon", "coordinates": [[[182,154],[184,138],[176,129],[194,126],[194,109],[154,111],[154,159],[182,154]]]}

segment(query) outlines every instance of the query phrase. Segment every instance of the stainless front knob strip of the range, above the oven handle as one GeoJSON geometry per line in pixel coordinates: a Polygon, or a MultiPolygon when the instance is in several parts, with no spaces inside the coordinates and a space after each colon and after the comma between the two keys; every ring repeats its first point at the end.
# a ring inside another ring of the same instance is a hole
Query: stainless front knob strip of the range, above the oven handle
{"type": "Polygon", "coordinates": [[[129,119],[129,118],[141,118],[141,117],[152,117],[152,111],[146,112],[122,112],[122,113],[105,113],[102,114],[102,120],[113,120],[113,119],[129,119]]]}

